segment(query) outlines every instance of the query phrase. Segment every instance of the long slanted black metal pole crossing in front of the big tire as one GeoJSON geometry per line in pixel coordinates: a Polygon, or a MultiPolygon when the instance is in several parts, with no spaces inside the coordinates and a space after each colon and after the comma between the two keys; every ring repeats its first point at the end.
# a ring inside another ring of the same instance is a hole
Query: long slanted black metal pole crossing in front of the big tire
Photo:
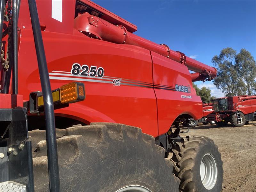
{"type": "Polygon", "coordinates": [[[49,187],[50,192],[60,192],[59,164],[50,78],[47,69],[43,38],[36,8],[36,1],[28,0],[28,6],[36,46],[36,56],[39,68],[39,75],[41,79],[42,92],[44,96],[44,116],[46,123],[46,145],[50,184],[49,187]]]}

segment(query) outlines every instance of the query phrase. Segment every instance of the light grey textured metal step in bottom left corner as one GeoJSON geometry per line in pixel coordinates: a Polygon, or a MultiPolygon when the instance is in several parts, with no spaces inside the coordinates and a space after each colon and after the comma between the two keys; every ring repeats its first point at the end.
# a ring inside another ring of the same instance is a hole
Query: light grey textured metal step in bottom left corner
{"type": "Polygon", "coordinates": [[[1,192],[27,192],[26,185],[14,181],[4,181],[0,183],[1,192]]]}

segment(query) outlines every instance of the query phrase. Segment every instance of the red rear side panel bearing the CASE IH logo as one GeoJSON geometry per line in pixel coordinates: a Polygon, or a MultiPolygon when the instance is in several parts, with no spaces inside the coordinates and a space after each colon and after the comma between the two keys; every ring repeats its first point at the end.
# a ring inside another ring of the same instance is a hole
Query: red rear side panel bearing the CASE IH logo
{"type": "Polygon", "coordinates": [[[151,54],[158,108],[158,131],[161,135],[169,130],[173,121],[181,114],[200,119],[203,116],[203,108],[200,97],[196,96],[195,90],[192,89],[188,68],[157,53],[151,54]]]}

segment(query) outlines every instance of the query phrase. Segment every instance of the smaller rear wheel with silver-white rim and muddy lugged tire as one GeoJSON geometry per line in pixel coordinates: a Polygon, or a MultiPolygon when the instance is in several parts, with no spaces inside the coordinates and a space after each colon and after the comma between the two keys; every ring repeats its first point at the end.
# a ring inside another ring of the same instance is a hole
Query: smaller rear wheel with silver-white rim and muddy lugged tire
{"type": "Polygon", "coordinates": [[[168,159],[180,178],[181,192],[220,192],[223,182],[222,161],[213,140],[198,136],[176,143],[168,159]]]}

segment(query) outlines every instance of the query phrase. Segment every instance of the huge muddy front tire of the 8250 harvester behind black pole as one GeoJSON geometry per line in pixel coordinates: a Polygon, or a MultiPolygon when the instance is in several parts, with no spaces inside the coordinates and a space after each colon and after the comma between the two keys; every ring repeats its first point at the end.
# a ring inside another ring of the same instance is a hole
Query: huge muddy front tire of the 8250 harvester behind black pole
{"type": "MultiPolygon", "coordinates": [[[[33,142],[33,138],[32,142],[33,142]]],[[[137,127],[92,123],[57,139],[61,192],[178,192],[180,180],[155,138],[137,127]]],[[[46,141],[33,158],[35,191],[48,192],[46,141]]]]}

